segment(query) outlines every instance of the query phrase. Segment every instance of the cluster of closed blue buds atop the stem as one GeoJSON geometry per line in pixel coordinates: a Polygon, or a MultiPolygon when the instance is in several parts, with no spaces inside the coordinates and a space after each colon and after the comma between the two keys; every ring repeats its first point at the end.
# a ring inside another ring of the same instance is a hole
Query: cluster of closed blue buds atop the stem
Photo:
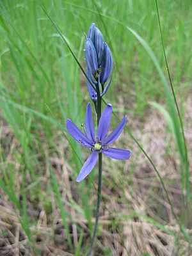
{"type": "MultiPolygon", "coordinates": [[[[86,60],[86,75],[92,82],[99,85],[100,96],[108,90],[112,79],[113,59],[108,44],[104,42],[102,33],[94,23],[89,28],[85,43],[84,58],[86,60]],[[107,84],[105,84],[108,81],[107,84]]],[[[97,93],[87,81],[88,91],[93,101],[97,101],[97,93]]]]}

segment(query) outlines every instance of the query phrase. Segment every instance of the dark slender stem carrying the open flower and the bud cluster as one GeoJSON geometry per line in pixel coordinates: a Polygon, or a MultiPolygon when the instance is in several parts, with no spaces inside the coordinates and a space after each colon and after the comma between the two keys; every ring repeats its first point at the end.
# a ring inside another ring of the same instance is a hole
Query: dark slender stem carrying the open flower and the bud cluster
{"type": "MultiPolygon", "coordinates": [[[[101,97],[99,92],[99,84],[96,85],[97,92],[97,127],[99,125],[99,120],[101,116],[101,97]]],[[[99,221],[99,209],[100,209],[100,200],[101,200],[101,186],[102,186],[102,153],[99,153],[99,175],[98,175],[98,188],[97,188],[97,209],[95,216],[95,227],[93,230],[92,244],[90,246],[90,251],[88,252],[88,256],[92,255],[93,246],[95,243],[95,237],[97,234],[97,225],[99,221]]]]}

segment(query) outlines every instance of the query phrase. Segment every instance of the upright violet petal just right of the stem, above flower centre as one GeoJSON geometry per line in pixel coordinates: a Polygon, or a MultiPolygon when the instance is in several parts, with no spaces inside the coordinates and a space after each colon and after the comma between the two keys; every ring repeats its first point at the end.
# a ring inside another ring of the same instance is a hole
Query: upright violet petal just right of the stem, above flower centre
{"type": "Polygon", "coordinates": [[[97,129],[97,140],[104,141],[109,131],[109,125],[111,122],[111,113],[113,111],[112,105],[108,103],[102,115],[100,116],[99,126],[97,129]]]}

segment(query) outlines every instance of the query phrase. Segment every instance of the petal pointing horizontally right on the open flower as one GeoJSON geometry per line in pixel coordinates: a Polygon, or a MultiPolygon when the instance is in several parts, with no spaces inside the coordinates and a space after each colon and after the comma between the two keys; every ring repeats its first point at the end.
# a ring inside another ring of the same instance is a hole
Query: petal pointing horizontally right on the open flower
{"type": "Polygon", "coordinates": [[[108,148],[107,150],[103,150],[102,154],[118,160],[128,160],[131,157],[131,151],[122,148],[108,148]]]}

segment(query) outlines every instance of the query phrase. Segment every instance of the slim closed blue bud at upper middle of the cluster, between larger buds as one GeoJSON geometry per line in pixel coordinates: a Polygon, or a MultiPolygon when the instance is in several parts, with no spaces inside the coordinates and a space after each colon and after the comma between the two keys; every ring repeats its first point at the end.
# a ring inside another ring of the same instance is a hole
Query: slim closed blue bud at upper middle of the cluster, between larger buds
{"type": "Polygon", "coordinates": [[[102,56],[103,56],[103,51],[104,51],[104,40],[102,33],[98,28],[95,28],[95,42],[94,42],[95,50],[97,53],[97,61],[98,65],[100,66],[102,56]]]}

